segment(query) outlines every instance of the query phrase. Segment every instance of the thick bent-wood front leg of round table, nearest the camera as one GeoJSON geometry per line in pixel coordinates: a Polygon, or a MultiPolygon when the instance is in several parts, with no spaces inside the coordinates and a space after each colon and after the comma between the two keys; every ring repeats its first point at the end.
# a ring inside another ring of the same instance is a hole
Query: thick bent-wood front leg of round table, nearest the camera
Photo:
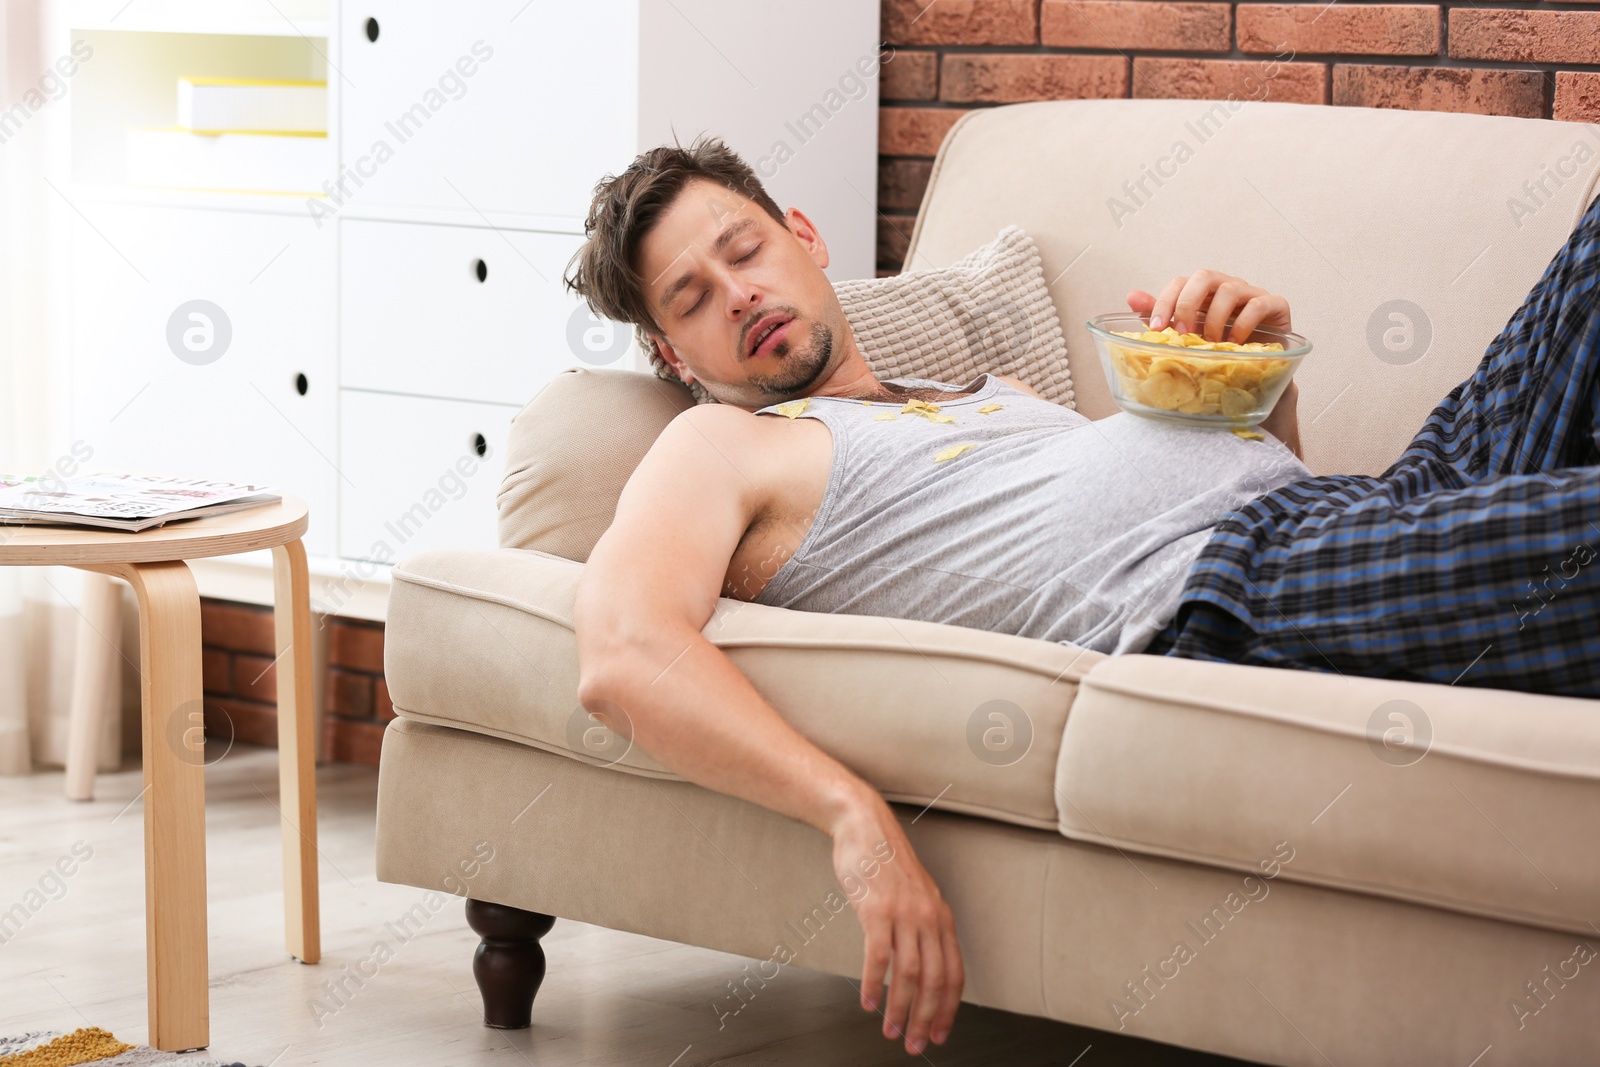
{"type": "Polygon", "coordinates": [[[122,577],[139,600],[149,1041],[168,1053],[205,1048],[211,1041],[211,1005],[200,593],[182,561],[93,569],[122,577]]]}

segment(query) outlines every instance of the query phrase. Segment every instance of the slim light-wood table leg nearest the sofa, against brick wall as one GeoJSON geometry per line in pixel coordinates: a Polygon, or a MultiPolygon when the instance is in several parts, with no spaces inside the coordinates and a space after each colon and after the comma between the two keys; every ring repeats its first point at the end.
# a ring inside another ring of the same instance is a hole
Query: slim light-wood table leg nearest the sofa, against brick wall
{"type": "Polygon", "coordinates": [[[310,576],[306,545],[272,550],[278,648],[278,811],[283,817],[283,921],[290,955],[322,958],[317,897],[317,737],[312,731],[310,576]]]}

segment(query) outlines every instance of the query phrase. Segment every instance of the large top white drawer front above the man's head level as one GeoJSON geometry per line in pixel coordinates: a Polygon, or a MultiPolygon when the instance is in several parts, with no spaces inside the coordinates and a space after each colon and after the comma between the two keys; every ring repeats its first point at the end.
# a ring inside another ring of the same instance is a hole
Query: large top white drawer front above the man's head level
{"type": "Polygon", "coordinates": [[[341,3],[350,202],[581,219],[637,150],[637,22],[634,0],[341,3]]]}

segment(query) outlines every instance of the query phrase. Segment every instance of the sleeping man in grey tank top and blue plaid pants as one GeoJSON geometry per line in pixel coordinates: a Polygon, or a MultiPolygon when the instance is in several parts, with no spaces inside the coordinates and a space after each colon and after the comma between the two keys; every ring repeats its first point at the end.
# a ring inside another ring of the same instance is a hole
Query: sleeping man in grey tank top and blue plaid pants
{"type": "MultiPolygon", "coordinates": [[[[701,633],[718,595],[1600,696],[1600,206],[1381,477],[1312,475],[1293,386],[1256,442],[1091,422],[994,374],[878,381],[821,234],[717,141],[600,182],[586,230],[568,285],[718,403],[667,426],[584,566],[579,699],[683,777],[827,833],[842,880],[893,856],[853,897],[861,1003],[909,1053],[960,1001],[950,909],[888,803],[701,633]]],[[[1213,341],[1290,328],[1288,301],[1214,270],[1128,306],[1184,331],[1205,312],[1213,341]]]]}

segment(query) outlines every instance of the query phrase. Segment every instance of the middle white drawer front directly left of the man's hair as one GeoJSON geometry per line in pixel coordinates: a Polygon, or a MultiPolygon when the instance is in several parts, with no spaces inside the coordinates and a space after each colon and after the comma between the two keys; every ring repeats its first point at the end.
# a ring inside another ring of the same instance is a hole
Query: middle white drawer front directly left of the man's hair
{"type": "Polygon", "coordinates": [[[522,405],[563,368],[627,366],[562,274],[570,234],[346,219],[341,384],[522,405]]]}

